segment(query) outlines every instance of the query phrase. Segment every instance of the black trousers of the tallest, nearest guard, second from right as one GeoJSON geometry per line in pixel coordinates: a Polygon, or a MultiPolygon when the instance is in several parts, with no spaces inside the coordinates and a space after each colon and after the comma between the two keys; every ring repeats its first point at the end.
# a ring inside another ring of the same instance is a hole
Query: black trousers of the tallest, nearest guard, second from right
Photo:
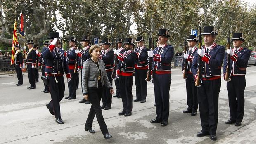
{"type": "Polygon", "coordinates": [[[218,125],[218,101],[221,79],[203,80],[201,87],[197,87],[197,96],[202,130],[216,134],[218,125]]]}

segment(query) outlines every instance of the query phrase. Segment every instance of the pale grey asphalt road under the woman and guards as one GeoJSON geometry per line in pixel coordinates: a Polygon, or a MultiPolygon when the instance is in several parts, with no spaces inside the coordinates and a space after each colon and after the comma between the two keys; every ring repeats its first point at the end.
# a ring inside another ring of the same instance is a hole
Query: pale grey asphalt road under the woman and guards
{"type": "MultiPolygon", "coordinates": [[[[219,115],[216,142],[242,130],[256,120],[256,66],[247,68],[247,86],[245,89],[245,111],[241,127],[226,125],[229,119],[228,93],[226,82],[222,78],[219,96],[219,115]]],[[[95,134],[85,132],[85,121],[90,105],[80,104],[81,85],[76,91],[76,99],[62,99],[61,114],[64,125],[55,123],[45,104],[50,101],[50,93],[44,94],[43,82],[36,83],[36,89],[28,90],[28,76],[24,73],[24,84],[15,86],[15,74],[0,75],[0,143],[12,144],[212,144],[208,136],[197,137],[201,130],[199,110],[197,116],[183,114],[187,108],[185,80],[180,69],[173,69],[171,81],[170,115],[166,127],[160,123],[151,124],[156,117],[154,107],[154,87],[148,83],[147,102],[133,102],[133,114],[129,117],[118,116],[122,110],[121,99],[112,99],[112,109],[103,110],[103,116],[112,139],[105,140],[100,132],[96,117],[92,128],[95,134]]],[[[66,80],[66,78],[65,78],[66,80]]],[[[115,86],[114,86],[115,87],[115,86]]],[[[68,94],[66,83],[65,96],[68,94]]],[[[135,82],[133,99],[135,99],[135,82]]],[[[254,135],[256,137],[256,134],[254,135]]],[[[254,137],[254,139],[256,139],[254,137]]],[[[225,143],[225,141],[224,141],[225,143]]]]}

